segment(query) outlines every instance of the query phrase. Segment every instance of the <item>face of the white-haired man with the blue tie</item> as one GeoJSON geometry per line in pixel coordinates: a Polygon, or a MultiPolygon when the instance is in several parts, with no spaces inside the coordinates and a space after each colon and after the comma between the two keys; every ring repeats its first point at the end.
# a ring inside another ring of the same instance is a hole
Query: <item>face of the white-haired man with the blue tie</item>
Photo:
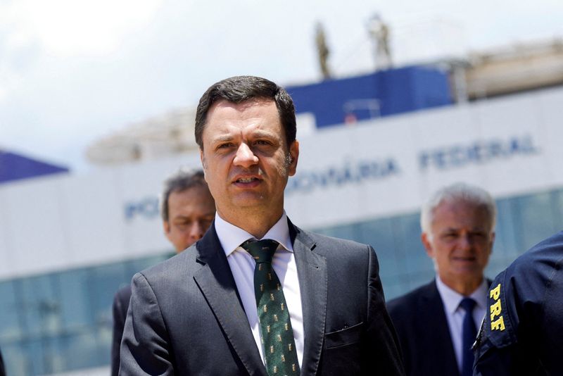
{"type": "Polygon", "coordinates": [[[495,239],[491,225],[486,209],[467,201],[445,201],[434,210],[422,243],[446,285],[481,283],[495,239]]]}

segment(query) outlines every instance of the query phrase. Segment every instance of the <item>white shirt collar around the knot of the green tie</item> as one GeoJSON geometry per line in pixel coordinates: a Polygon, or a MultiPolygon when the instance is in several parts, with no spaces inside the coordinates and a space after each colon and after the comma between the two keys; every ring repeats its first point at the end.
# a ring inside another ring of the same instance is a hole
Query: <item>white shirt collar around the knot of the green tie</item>
{"type": "MultiPolygon", "coordinates": [[[[223,247],[225,255],[229,256],[233,253],[238,246],[246,242],[248,239],[256,239],[253,235],[248,234],[240,227],[236,227],[232,223],[220,217],[219,213],[215,213],[215,232],[219,242],[223,247]]],[[[281,244],[286,250],[293,252],[291,245],[291,238],[289,237],[289,226],[287,225],[286,212],[281,215],[281,218],[270,228],[262,237],[262,239],[272,239],[281,244]]],[[[258,239],[260,240],[260,239],[258,239]]]]}

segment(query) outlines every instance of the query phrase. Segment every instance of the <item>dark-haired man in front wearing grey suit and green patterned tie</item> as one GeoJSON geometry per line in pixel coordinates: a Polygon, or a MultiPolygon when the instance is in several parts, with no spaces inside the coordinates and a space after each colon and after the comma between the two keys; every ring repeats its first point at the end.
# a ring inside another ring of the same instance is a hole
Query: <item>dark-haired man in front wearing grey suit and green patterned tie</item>
{"type": "Polygon", "coordinates": [[[231,77],[203,94],[196,142],[215,221],[133,277],[120,375],[403,375],[372,247],[286,216],[295,137],[274,82],[231,77]]]}

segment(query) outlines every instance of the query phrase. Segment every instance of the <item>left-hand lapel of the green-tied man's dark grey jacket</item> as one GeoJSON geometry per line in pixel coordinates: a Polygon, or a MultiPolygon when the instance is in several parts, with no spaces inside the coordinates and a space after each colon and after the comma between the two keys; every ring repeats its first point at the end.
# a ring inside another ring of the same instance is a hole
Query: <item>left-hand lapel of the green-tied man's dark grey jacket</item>
{"type": "Polygon", "coordinates": [[[194,274],[198,287],[248,374],[266,376],[215,225],[211,225],[196,247],[197,260],[202,264],[201,269],[194,274]]]}

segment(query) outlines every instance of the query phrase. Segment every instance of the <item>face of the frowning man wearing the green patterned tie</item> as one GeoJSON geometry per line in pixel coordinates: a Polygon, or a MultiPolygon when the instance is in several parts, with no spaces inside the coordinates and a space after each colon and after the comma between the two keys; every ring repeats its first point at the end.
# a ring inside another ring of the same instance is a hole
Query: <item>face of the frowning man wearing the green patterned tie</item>
{"type": "Polygon", "coordinates": [[[202,138],[205,180],[222,218],[244,220],[243,213],[255,210],[279,218],[299,146],[288,148],[274,101],[213,104],[202,138]]]}

